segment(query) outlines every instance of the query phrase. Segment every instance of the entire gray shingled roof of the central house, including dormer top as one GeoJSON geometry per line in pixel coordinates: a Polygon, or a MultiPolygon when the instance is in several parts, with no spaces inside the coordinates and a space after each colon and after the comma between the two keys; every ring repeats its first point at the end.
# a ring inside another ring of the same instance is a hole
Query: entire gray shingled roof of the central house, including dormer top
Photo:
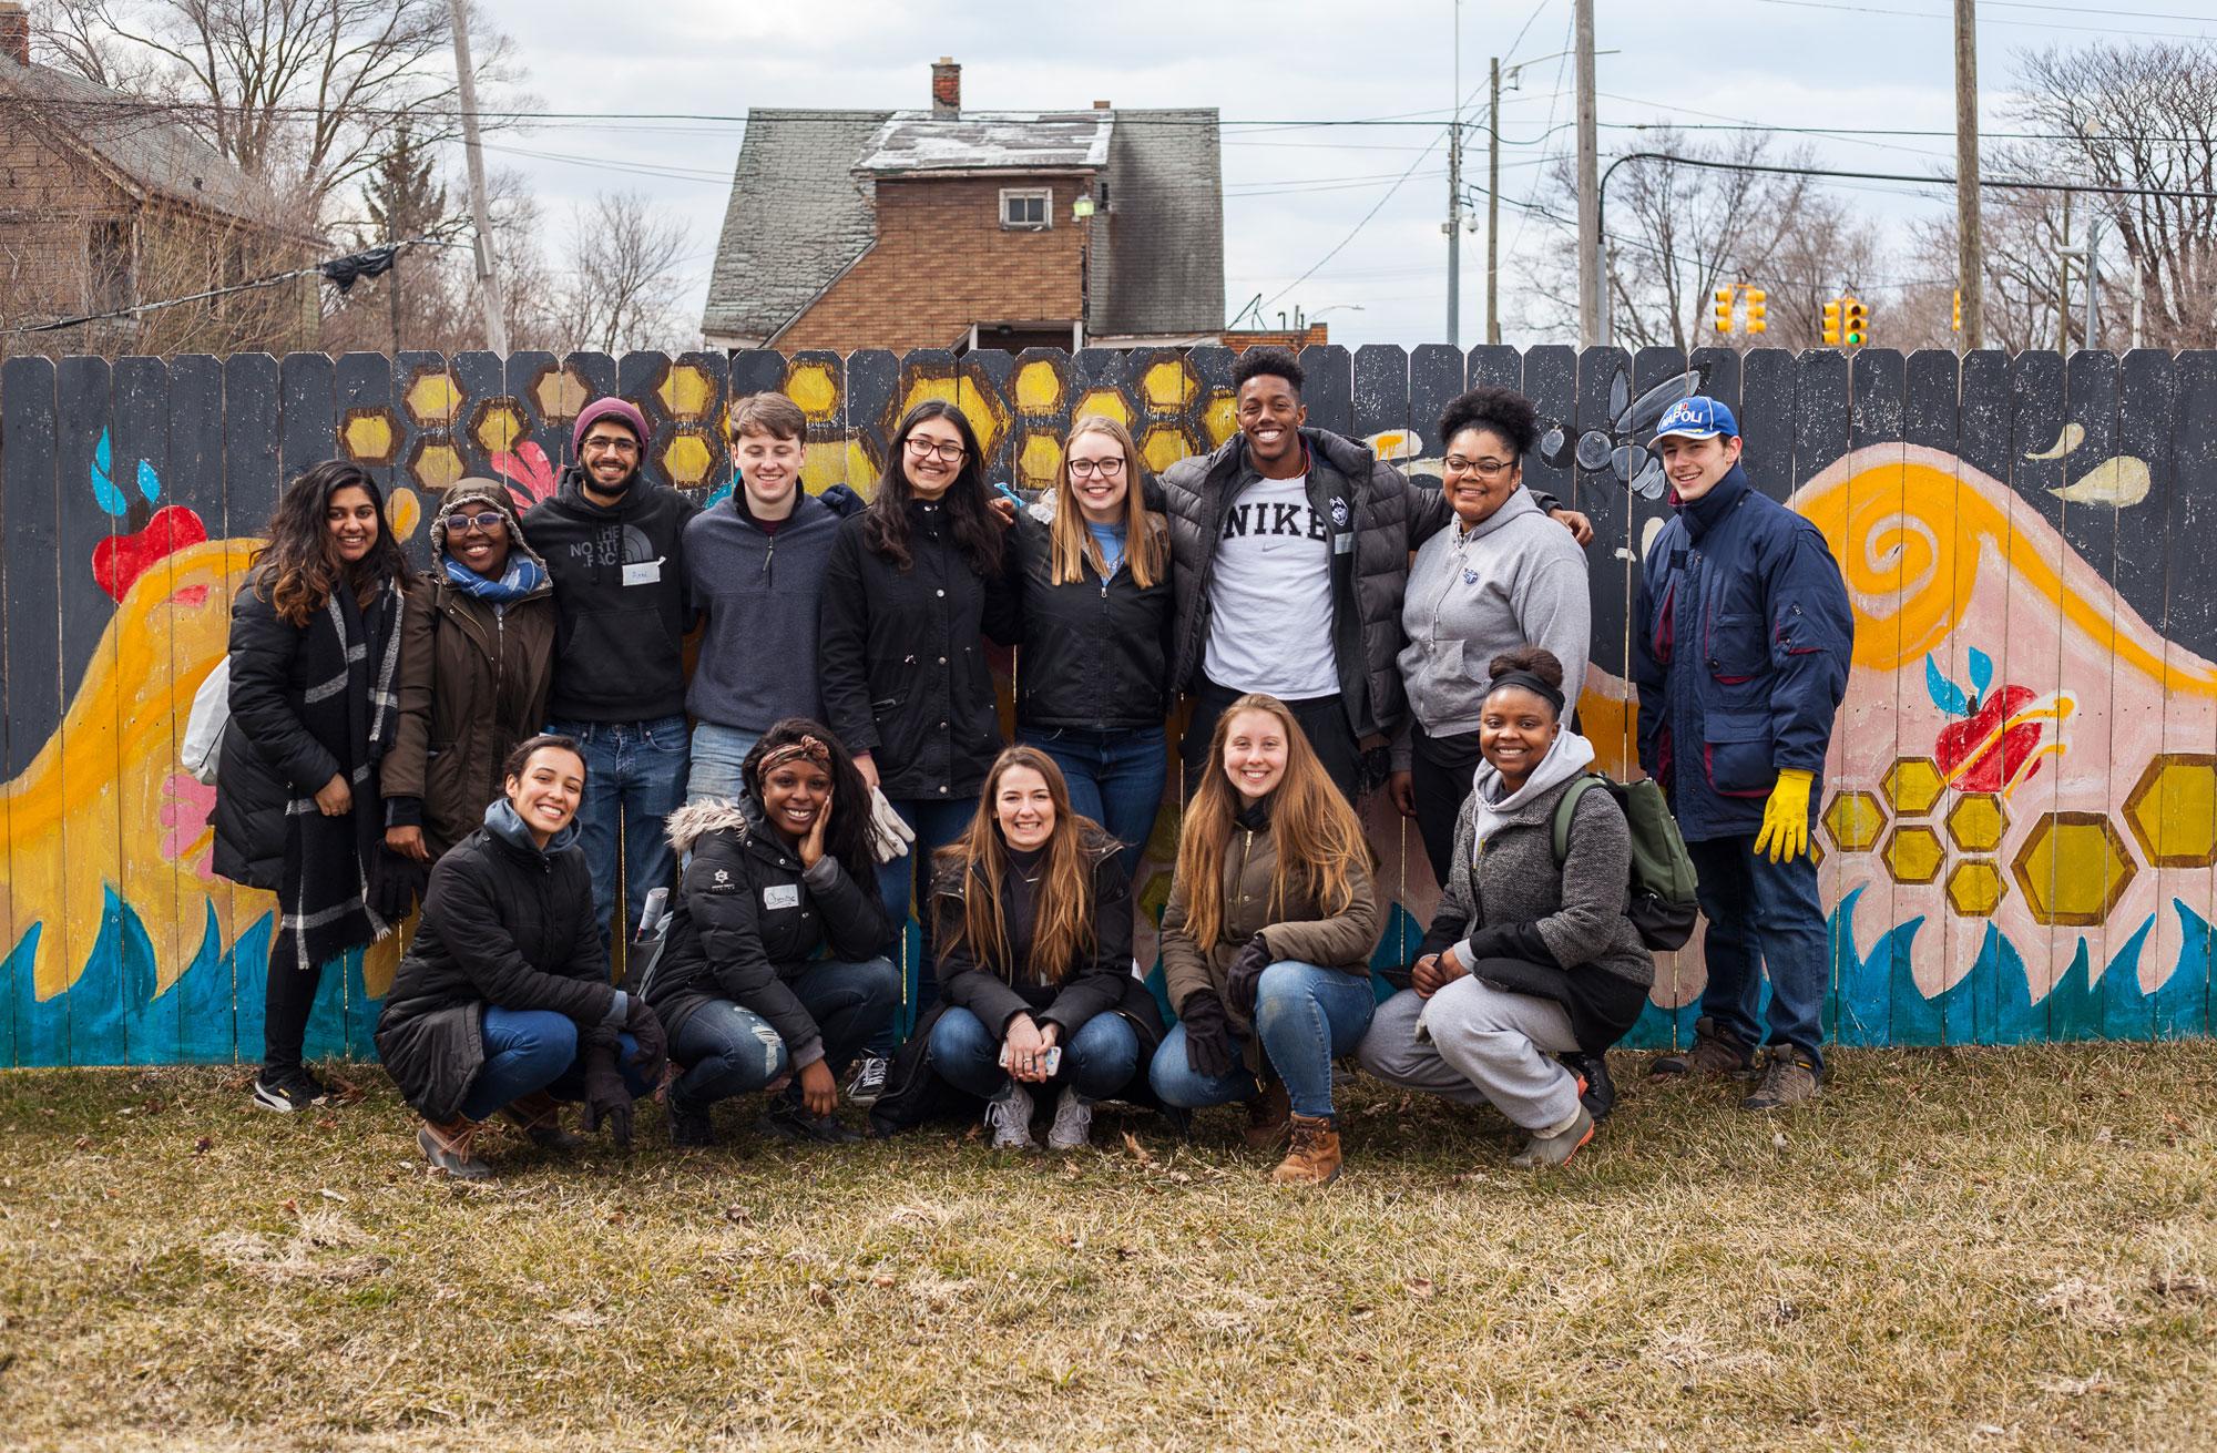
{"type": "Polygon", "coordinates": [[[913,173],[944,157],[967,157],[956,162],[962,168],[1100,168],[1108,210],[1095,215],[1089,330],[1162,337],[1224,328],[1215,109],[1024,117],[1018,128],[1058,140],[1044,153],[1033,148],[1031,159],[1015,159],[1011,142],[1022,137],[1009,124],[998,115],[942,122],[916,111],[749,111],[701,332],[774,337],[876,241],[873,175],[913,173]],[[1038,133],[1044,122],[1055,131],[1038,133]],[[865,168],[902,153],[916,159],[865,168]]]}

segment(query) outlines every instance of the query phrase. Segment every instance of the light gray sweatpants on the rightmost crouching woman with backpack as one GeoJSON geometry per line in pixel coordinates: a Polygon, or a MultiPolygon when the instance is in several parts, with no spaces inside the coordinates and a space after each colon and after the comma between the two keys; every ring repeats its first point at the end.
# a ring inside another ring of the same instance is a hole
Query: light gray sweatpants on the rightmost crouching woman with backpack
{"type": "Polygon", "coordinates": [[[1561,1003],[1463,975],[1430,999],[1408,988],[1381,1003],[1357,1054],[1388,1085],[1490,1103],[1523,1130],[1547,1130],[1579,1107],[1579,1076],[1550,1054],[1576,1048],[1561,1003]],[[1428,1039],[1417,1039],[1419,1014],[1428,1039]]]}

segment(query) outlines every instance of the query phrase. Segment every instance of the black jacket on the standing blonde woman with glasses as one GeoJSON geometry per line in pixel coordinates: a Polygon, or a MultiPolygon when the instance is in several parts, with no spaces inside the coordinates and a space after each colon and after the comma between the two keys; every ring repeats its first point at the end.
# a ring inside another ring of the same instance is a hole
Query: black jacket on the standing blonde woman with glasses
{"type": "Polygon", "coordinates": [[[1049,731],[1162,726],[1173,702],[1171,627],[1177,620],[1168,558],[1146,587],[1133,578],[1131,563],[1117,565],[1108,580],[1086,563],[1084,580],[1055,585],[1053,518],[1049,496],[1015,521],[1024,633],[1015,660],[1015,720],[1049,731]]]}

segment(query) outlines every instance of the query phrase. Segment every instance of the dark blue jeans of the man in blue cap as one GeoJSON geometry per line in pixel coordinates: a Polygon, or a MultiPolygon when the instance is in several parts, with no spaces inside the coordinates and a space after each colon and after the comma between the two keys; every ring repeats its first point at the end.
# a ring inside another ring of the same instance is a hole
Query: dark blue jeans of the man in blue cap
{"type": "Polygon", "coordinates": [[[1756,853],[1754,833],[1689,842],[1685,851],[1700,875],[1696,897],[1709,919],[1703,946],[1709,986],[1700,990],[1700,1012],[1743,1043],[1794,1045],[1822,1068],[1831,963],[1816,864],[1807,853],[1774,864],[1769,853],[1756,853]],[[1765,970],[1771,977],[1769,1037],[1756,1023],[1765,970]]]}

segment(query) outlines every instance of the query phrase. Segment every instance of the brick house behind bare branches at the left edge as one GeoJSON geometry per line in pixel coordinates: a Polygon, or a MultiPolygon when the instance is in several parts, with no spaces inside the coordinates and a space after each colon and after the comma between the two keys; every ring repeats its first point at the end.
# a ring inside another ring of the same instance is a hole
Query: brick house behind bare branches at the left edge
{"type": "MultiPolygon", "coordinates": [[[[208,292],[315,259],[317,239],[186,126],[137,97],[31,64],[0,0],[0,328],[208,292]]],[[[135,317],[0,339],[4,352],[313,348],[313,277],[135,317]]]]}

